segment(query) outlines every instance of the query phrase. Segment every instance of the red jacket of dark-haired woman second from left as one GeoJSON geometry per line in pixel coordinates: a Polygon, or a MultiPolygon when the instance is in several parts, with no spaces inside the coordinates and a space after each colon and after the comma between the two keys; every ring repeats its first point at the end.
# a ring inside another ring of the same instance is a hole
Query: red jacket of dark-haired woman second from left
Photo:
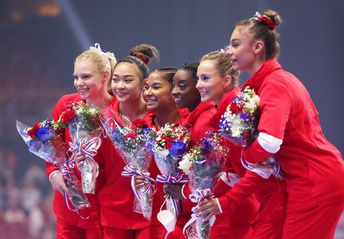
{"type": "MultiPolygon", "coordinates": [[[[116,102],[116,104],[113,104],[112,109],[119,112],[118,107],[119,104],[116,102]]],[[[152,112],[148,111],[143,120],[146,120],[149,124],[151,118],[152,112]]],[[[133,212],[134,195],[131,190],[131,178],[121,176],[125,163],[113,145],[105,149],[104,161],[106,182],[99,193],[101,224],[105,227],[123,230],[144,229],[150,225],[158,225],[158,220],[153,219],[156,218],[164,199],[162,189],[158,189],[153,196],[153,213],[151,222],[149,222],[142,214],[133,212]]],[[[159,173],[154,160],[151,161],[149,172],[153,179],[159,173]]]]}

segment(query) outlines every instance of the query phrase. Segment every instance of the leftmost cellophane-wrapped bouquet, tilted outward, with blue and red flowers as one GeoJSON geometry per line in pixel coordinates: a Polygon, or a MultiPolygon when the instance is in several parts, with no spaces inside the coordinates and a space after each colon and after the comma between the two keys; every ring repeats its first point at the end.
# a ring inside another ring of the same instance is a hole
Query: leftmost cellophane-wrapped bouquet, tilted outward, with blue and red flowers
{"type": "Polygon", "coordinates": [[[89,207],[89,201],[81,190],[80,181],[74,173],[74,163],[67,160],[63,133],[56,122],[48,119],[29,127],[17,121],[17,130],[25,144],[28,145],[30,152],[48,163],[54,164],[62,172],[67,188],[73,194],[69,200],[75,209],[69,207],[65,194],[67,207],[73,211],[89,207]]]}

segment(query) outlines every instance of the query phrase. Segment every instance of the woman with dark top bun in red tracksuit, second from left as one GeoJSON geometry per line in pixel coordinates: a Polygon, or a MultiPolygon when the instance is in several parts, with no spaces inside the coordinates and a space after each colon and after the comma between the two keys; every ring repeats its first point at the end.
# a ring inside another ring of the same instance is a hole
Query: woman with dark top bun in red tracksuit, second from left
{"type": "MultiPolygon", "coordinates": [[[[142,87],[147,79],[149,60],[158,57],[158,51],[151,45],[133,47],[130,56],[120,60],[115,69],[111,89],[118,102],[112,109],[120,117],[129,121],[143,119],[149,121],[151,112],[147,111],[142,98],[142,87]]],[[[164,227],[160,223],[149,221],[138,212],[133,212],[134,195],[129,177],[122,177],[125,163],[114,146],[106,149],[105,154],[105,185],[100,190],[101,224],[105,238],[160,238],[164,227]],[[151,233],[152,231],[152,233],[151,233]]],[[[156,177],[158,168],[151,163],[151,177],[156,177]]],[[[153,215],[156,217],[160,208],[160,196],[153,196],[153,215]]]]}

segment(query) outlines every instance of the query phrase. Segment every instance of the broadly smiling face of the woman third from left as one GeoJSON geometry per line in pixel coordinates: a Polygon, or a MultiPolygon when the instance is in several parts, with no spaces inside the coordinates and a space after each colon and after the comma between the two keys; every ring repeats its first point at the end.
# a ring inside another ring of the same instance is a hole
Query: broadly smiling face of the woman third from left
{"type": "Polygon", "coordinates": [[[149,110],[166,110],[175,104],[171,92],[172,85],[162,74],[160,71],[154,71],[144,84],[143,98],[149,110]]]}

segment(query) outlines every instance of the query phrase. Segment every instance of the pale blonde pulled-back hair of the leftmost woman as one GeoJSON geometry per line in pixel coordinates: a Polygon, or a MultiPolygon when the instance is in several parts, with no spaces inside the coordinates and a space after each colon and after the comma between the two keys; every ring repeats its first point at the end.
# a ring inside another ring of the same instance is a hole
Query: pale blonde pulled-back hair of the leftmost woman
{"type": "Polygon", "coordinates": [[[89,49],[76,57],[74,65],[80,60],[92,60],[99,73],[109,71],[109,78],[107,79],[107,91],[111,92],[111,79],[114,75],[114,69],[117,63],[116,58],[109,57],[107,53],[100,50],[89,49]]]}

